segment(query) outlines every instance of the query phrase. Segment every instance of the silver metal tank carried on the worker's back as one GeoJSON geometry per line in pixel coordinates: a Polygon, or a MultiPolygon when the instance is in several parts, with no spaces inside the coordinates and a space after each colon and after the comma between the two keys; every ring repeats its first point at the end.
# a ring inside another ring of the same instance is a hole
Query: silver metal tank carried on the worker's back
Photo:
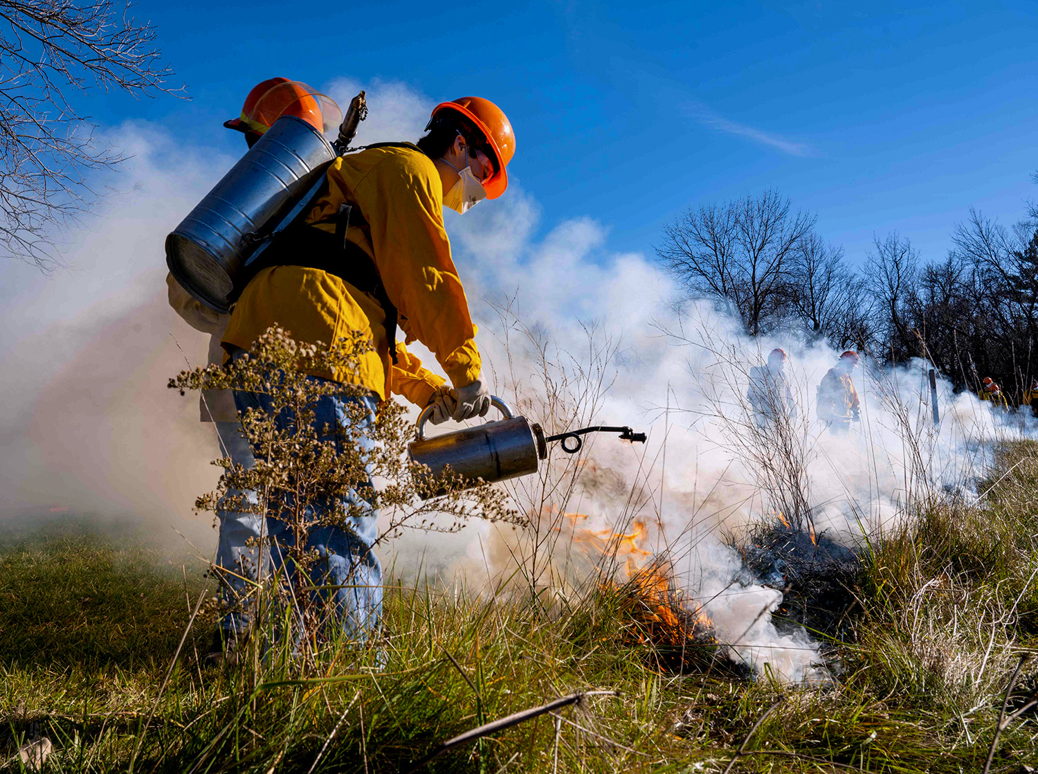
{"type": "Polygon", "coordinates": [[[166,237],[166,265],[217,312],[245,261],[335,158],[328,140],[294,115],[278,118],[166,237]]]}

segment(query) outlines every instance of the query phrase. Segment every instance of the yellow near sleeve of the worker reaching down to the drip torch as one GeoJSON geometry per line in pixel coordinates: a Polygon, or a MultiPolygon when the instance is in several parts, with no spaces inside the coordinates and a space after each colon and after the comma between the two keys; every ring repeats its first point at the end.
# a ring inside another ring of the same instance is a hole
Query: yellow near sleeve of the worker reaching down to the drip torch
{"type": "Polygon", "coordinates": [[[372,248],[389,300],[408,319],[410,336],[436,355],[456,386],[482,369],[475,326],[443,228],[439,176],[391,157],[356,185],[354,197],[371,228],[372,248]]]}

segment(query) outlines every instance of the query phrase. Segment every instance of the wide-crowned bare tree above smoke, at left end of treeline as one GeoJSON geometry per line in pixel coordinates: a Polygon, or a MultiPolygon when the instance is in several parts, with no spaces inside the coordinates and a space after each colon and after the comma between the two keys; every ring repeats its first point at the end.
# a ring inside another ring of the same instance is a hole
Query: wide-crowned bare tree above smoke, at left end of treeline
{"type": "Polygon", "coordinates": [[[730,302],[757,336],[781,313],[793,250],[815,220],[767,190],[686,210],[656,255],[691,294],[730,302]]]}

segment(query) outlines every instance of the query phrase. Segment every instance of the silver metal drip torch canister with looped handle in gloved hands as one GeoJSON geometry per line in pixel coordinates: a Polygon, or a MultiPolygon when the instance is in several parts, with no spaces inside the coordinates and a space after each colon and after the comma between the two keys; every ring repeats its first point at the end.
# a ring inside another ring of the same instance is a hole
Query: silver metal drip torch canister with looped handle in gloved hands
{"type": "Polygon", "coordinates": [[[480,479],[490,483],[537,473],[538,462],[548,455],[541,426],[525,417],[514,417],[496,396],[491,397],[491,403],[504,419],[432,438],[425,434],[432,407],[418,417],[417,437],[407,450],[411,462],[429,468],[419,482],[422,498],[445,493],[437,481],[448,471],[448,475],[464,478],[467,485],[475,485],[480,479]]]}

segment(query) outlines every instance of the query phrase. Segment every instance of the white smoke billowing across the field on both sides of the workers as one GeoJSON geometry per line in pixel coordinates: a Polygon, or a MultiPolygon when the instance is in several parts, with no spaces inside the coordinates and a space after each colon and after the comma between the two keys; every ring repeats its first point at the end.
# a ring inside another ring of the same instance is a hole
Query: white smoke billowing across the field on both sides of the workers
{"type": "MultiPolygon", "coordinates": [[[[346,105],[362,87],[372,114],[358,142],[420,135],[434,101],[404,85],[335,81],[327,90],[346,105]]],[[[71,268],[45,278],[25,265],[2,267],[5,513],[134,514],[163,529],[187,529],[209,552],[215,538],[201,530],[209,519],[190,509],[218,477],[208,464],[217,456],[215,436],[198,423],[192,399],[165,388],[185,367],[185,355],[191,365],[204,363],[207,338],[165,303],[163,240],[234,160],[185,149],[153,126],[125,125],[113,135],[135,154],[117,180],[128,193],[72,235],[71,268]]],[[[519,143],[522,153],[521,137],[519,143]]],[[[541,390],[546,364],[528,340],[508,329],[510,320],[550,341],[549,368],[588,365],[589,328],[599,341],[611,341],[611,386],[588,424],[630,425],[647,431],[649,443],[590,439],[579,510],[613,531],[628,529],[635,516],[645,521],[649,548],[670,551],[685,591],[709,612],[733,658],[793,682],[817,676],[817,645],[805,633],[782,635],[771,622],[781,592],[737,584],[740,561],[721,539],[723,531],[765,516],[769,504],[725,421],[726,412],[738,413],[745,383],[718,353],[748,368],[772,346],[789,352],[812,433],[816,527],[847,542],[902,517],[914,475],[918,455],[884,394],[900,396],[914,418],[934,487],[960,486],[976,475],[974,452],[984,448],[977,439],[1010,430],[996,427],[972,396],[952,396],[947,381],[939,384],[939,432],[927,429],[925,368],[917,364],[875,379],[868,367],[859,371],[861,428],[831,436],[810,418],[814,386],[839,352],[792,335],[748,339],[708,303],[676,311],[671,281],[640,253],[610,251],[601,223],[549,221],[542,233],[541,219],[518,176],[500,199],[464,217],[447,213],[486,374],[500,392],[541,390]],[[502,306],[511,312],[502,316],[502,306]],[[602,486],[603,477],[612,484],[602,486]],[[636,512],[618,496],[618,481],[638,492],[636,512]]],[[[402,566],[418,565],[418,555],[428,552],[444,566],[493,575],[499,569],[493,543],[500,539],[485,527],[449,537],[416,535],[398,542],[394,555],[402,566]]]]}

